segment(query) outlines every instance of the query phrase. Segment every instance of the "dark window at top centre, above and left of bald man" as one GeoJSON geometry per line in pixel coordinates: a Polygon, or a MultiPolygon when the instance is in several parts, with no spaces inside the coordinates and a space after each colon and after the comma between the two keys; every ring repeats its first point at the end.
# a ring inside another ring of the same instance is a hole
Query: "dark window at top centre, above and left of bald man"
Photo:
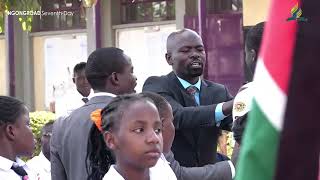
{"type": "Polygon", "coordinates": [[[174,19],[174,0],[121,0],[122,24],[174,19]]]}

